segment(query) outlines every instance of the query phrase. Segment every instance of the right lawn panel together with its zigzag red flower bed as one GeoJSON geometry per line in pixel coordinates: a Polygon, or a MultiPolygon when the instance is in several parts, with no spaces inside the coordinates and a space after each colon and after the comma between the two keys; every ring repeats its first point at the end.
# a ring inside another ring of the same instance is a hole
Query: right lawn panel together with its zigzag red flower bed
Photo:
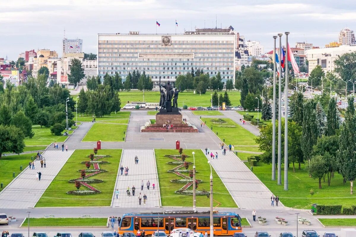
{"type": "MultiPolygon", "coordinates": [[[[208,160],[201,150],[187,149],[183,151],[186,155],[189,154],[189,157],[185,159],[185,162],[189,163],[188,171],[184,167],[184,162],[178,158],[180,157],[178,150],[155,150],[162,206],[193,205],[193,197],[191,195],[193,192],[193,180],[189,177],[189,171],[193,169],[193,151],[195,152],[195,167],[197,170],[195,174],[195,178],[198,180],[197,190],[198,192],[203,192],[203,189],[208,191],[210,185],[210,167],[208,160]],[[179,179],[180,177],[181,179],[179,179]]],[[[220,202],[221,207],[236,208],[236,203],[215,171],[213,171],[213,182],[214,200],[220,202]]],[[[204,193],[200,194],[196,197],[197,206],[208,207],[210,205],[209,198],[204,193]]],[[[214,202],[214,204],[217,203],[214,202]]]]}

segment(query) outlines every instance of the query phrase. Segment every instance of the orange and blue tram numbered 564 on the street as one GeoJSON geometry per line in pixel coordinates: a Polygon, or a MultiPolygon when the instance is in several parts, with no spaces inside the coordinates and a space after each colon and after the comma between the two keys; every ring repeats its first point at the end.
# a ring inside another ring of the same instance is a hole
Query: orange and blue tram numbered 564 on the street
{"type": "MultiPolygon", "coordinates": [[[[214,235],[234,235],[242,232],[241,218],[234,212],[214,212],[214,235]]],[[[122,216],[118,233],[144,230],[146,235],[152,235],[154,231],[162,231],[171,234],[174,228],[190,228],[196,232],[208,232],[210,234],[210,212],[193,211],[164,211],[164,212],[140,212],[127,213],[122,216]]]]}

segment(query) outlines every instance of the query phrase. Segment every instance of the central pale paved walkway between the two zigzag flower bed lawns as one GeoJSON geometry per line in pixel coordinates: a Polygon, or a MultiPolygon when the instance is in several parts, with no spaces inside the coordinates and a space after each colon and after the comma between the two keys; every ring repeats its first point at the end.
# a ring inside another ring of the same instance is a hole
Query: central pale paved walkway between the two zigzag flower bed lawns
{"type": "Polygon", "coordinates": [[[159,185],[157,180],[157,168],[154,150],[126,150],[122,151],[122,157],[120,161],[120,167],[129,167],[129,175],[121,175],[119,170],[119,176],[116,180],[116,189],[119,189],[119,198],[112,202],[112,207],[120,208],[154,208],[160,206],[159,185]],[[138,164],[135,164],[135,156],[138,157],[138,164]],[[141,191],[141,180],[143,180],[143,190],[141,191]],[[150,189],[147,189],[147,181],[150,181],[150,189]],[[155,189],[152,188],[152,184],[155,184],[155,189]],[[132,195],[132,186],[135,186],[135,196],[132,195]],[[127,196],[126,190],[130,187],[131,196],[127,196]],[[141,206],[138,205],[138,194],[146,194],[147,203],[143,204],[143,198],[141,206]]]}

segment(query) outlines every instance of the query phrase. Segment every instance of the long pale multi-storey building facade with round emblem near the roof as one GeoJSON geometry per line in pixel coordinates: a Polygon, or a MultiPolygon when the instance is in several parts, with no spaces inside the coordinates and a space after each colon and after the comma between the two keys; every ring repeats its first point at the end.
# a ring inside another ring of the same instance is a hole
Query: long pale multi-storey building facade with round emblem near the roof
{"type": "Polygon", "coordinates": [[[235,78],[235,34],[98,34],[98,75],[145,71],[155,85],[195,70],[235,78]]]}

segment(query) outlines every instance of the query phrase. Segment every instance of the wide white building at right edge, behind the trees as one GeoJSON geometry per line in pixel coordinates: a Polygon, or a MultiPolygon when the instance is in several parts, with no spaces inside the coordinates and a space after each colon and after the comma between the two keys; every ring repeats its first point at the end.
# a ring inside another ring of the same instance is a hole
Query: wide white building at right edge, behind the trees
{"type": "Polygon", "coordinates": [[[356,45],[340,45],[334,48],[309,49],[307,51],[307,59],[309,61],[309,72],[317,65],[325,71],[333,71],[335,69],[334,61],[339,56],[345,53],[356,51],[356,45]]]}

